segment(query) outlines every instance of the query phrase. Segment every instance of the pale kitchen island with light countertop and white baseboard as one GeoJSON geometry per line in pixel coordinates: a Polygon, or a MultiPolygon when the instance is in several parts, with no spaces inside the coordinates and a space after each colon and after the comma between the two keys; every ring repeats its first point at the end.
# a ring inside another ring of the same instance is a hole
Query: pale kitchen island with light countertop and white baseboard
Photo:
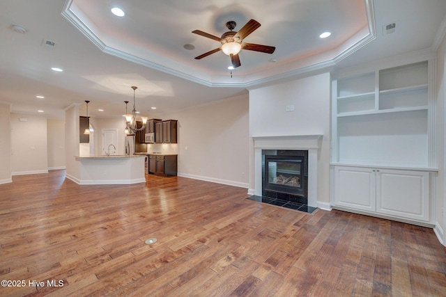
{"type": "Polygon", "coordinates": [[[143,155],[75,156],[79,161],[77,184],[137,184],[146,182],[143,155]]]}

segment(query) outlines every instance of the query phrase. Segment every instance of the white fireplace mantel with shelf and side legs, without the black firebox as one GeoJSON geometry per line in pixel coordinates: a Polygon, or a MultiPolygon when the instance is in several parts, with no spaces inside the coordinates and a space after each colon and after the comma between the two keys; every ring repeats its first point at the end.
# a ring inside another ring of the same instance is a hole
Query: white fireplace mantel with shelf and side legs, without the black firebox
{"type": "Polygon", "coordinates": [[[252,136],[254,194],[262,195],[262,150],[308,150],[308,205],[317,207],[318,150],[322,135],[252,136]]]}

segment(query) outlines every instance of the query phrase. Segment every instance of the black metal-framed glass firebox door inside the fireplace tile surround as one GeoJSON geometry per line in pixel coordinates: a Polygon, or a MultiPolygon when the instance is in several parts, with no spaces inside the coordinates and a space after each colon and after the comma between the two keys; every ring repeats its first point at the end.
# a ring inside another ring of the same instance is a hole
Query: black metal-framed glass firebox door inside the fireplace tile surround
{"type": "Polygon", "coordinates": [[[304,156],[265,156],[268,191],[304,195],[304,156]]]}

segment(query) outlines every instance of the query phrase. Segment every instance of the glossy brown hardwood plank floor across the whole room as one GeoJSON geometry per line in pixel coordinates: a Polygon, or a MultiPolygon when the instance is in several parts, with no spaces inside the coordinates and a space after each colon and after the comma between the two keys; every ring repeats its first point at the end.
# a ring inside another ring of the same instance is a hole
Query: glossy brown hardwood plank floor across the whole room
{"type": "Polygon", "coordinates": [[[246,192],[183,177],[15,176],[0,185],[0,280],[16,287],[0,296],[446,296],[431,229],[246,192]]]}

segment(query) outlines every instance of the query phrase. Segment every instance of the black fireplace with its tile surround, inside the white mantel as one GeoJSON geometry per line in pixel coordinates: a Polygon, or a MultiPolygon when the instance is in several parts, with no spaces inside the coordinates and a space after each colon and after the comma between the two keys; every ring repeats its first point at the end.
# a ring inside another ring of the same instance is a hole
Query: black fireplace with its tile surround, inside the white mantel
{"type": "Polygon", "coordinates": [[[262,195],[307,204],[308,151],[263,151],[262,195]]]}

